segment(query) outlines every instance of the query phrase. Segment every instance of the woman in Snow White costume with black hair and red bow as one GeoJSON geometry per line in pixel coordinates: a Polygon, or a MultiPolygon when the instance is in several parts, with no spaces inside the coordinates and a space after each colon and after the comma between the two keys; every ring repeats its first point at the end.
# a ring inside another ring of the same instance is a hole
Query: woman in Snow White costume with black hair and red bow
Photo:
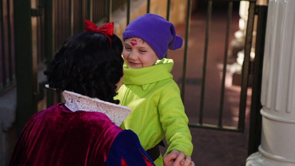
{"type": "MultiPolygon", "coordinates": [[[[10,165],[154,165],[136,134],[119,127],[131,110],[113,99],[123,80],[113,23],[85,20],[85,31],[68,38],[44,71],[46,87],[66,102],[27,121],[10,165]]],[[[164,163],[190,165],[184,157],[167,155],[164,163]]]]}

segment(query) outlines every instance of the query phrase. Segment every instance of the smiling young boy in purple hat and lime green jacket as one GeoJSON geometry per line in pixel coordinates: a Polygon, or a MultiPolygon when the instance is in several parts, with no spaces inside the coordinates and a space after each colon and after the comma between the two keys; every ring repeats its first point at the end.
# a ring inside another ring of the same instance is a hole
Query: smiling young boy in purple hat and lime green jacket
{"type": "Polygon", "coordinates": [[[134,131],[156,165],[163,165],[159,143],[166,138],[166,154],[184,151],[192,154],[192,136],[184,113],[178,85],[170,73],[172,59],[165,59],[168,48],[181,48],[182,38],[175,27],[155,14],[132,21],[123,32],[124,79],[115,99],[131,108],[122,129],[134,131]]]}

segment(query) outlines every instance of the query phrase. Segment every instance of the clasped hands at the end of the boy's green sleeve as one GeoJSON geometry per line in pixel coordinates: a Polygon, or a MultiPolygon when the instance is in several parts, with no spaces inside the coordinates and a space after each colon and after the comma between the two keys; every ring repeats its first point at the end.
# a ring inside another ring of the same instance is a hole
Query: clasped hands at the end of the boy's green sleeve
{"type": "Polygon", "coordinates": [[[185,156],[184,152],[172,150],[170,154],[163,157],[164,166],[195,166],[190,156],[185,156]]]}

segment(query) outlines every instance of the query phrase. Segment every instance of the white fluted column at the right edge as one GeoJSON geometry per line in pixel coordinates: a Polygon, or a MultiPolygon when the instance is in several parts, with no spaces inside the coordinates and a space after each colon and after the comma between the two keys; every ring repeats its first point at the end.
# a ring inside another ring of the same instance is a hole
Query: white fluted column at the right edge
{"type": "Polygon", "coordinates": [[[258,152],[246,166],[295,166],[295,1],[269,0],[258,152]]]}

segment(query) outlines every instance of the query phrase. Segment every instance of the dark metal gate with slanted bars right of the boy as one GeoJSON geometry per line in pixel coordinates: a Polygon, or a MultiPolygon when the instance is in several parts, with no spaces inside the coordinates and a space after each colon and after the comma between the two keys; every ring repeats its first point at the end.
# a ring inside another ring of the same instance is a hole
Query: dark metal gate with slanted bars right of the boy
{"type": "MultiPolygon", "coordinates": [[[[213,0],[208,0],[199,122],[198,123],[189,123],[189,126],[206,128],[206,129],[217,129],[217,130],[243,132],[244,126],[245,126],[245,110],[246,110],[246,99],[247,99],[247,89],[248,89],[248,77],[249,77],[249,69],[250,69],[250,51],[251,51],[252,31],[253,31],[253,24],[254,24],[255,0],[250,0],[250,5],[249,5],[246,40],[245,40],[245,45],[244,45],[245,57],[244,57],[244,62],[243,62],[243,67],[242,67],[241,94],[240,94],[239,115],[238,115],[239,120],[238,120],[237,127],[224,126],[222,124],[224,93],[225,93],[225,74],[226,74],[226,65],[227,65],[227,50],[228,50],[228,42],[229,42],[229,35],[230,35],[230,33],[229,33],[230,32],[230,22],[231,22],[232,12],[233,12],[233,0],[223,0],[223,1],[228,3],[228,9],[227,9],[225,52],[224,52],[224,59],[223,59],[222,85],[221,85],[221,95],[220,95],[220,103],[219,103],[218,123],[217,123],[217,125],[203,123],[205,80],[206,80],[206,67],[207,67],[207,57],[208,57],[208,40],[209,40],[210,26],[211,26],[212,4],[214,3],[213,0]]],[[[186,57],[184,57],[184,61],[186,62],[186,57]]],[[[183,68],[185,69],[185,66],[183,68]]],[[[185,90],[184,87],[185,87],[186,77],[184,75],[185,75],[185,71],[183,71],[183,81],[182,81],[183,88],[182,88],[182,93],[181,93],[182,97],[184,97],[184,90],[185,90]]]]}

